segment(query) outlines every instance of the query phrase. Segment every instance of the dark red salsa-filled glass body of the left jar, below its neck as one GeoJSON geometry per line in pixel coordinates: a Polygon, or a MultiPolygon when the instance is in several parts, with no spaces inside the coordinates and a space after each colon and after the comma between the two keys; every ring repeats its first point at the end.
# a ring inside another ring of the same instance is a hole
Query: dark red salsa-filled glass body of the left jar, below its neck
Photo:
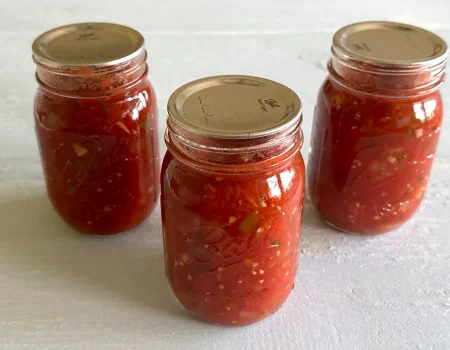
{"type": "Polygon", "coordinates": [[[90,234],[137,226],[159,195],[157,105],[146,74],[103,92],[83,97],[41,84],[34,104],[51,203],[69,225],[90,234]]]}

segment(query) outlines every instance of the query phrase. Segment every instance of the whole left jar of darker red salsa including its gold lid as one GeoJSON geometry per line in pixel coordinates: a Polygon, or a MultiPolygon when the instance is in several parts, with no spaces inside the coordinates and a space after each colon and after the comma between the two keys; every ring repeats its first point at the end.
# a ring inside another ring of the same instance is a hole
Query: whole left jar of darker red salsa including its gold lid
{"type": "Polygon", "coordinates": [[[74,228],[128,230],[159,195],[156,99],[144,39],[107,23],[60,27],[33,43],[36,134],[50,200],[74,228]]]}

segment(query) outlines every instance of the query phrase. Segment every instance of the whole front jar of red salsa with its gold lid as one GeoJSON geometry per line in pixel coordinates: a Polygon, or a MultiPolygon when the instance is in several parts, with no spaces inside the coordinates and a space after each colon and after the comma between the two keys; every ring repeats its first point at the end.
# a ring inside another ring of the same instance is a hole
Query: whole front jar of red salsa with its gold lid
{"type": "Polygon", "coordinates": [[[161,208],[166,274],[198,318],[245,325],[294,286],[305,168],[301,103],[276,82],[218,76],[168,103],[161,208]]]}

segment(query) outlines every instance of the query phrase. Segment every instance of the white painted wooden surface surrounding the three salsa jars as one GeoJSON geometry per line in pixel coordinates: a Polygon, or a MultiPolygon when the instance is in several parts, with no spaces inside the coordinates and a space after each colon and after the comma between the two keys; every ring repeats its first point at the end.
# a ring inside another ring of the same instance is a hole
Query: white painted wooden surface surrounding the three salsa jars
{"type": "MultiPolygon", "coordinates": [[[[111,238],[77,234],[53,212],[33,130],[30,49],[38,34],[70,22],[140,30],[161,135],[167,98],[187,81],[277,80],[303,100],[306,156],[339,26],[406,21],[450,42],[449,15],[448,0],[0,0],[0,349],[450,349],[448,113],[426,199],[409,223],[351,237],[326,228],[307,203],[286,304],[257,325],[220,328],[190,318],[171,296],[159,210],[111,238]]],[[[450,84],[443,94],[450,111],[450,84]]]]}

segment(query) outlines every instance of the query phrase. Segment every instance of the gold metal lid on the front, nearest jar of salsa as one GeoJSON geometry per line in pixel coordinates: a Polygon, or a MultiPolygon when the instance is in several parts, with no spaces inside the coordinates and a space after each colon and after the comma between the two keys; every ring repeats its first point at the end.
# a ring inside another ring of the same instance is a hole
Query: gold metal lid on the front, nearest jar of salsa
{"type": "Polygon", "coordinates": [[[225,139],[267,136],[301,122],[301,101],[275,81],[245,75],[195,80],[169,99],[169,118],[195,134],[225,139]]]}

